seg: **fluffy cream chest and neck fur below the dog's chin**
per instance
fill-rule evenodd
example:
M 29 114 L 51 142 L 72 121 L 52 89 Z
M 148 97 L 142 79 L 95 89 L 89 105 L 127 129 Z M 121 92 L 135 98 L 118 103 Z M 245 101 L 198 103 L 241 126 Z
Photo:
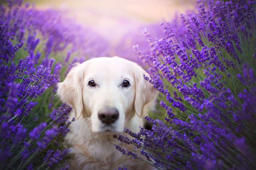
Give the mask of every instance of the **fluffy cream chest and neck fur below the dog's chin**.
M 72 164 L 77 167 L 112 168 L 112 166 L 120 163 L 120 160 L 131 159 L 115 149 L 114 144 L 124 145 L 124 143 L 114 139 L 113 135 L 91 134 L 89 127 L 82 120 L 75 120 L 70 124 L 70 132 L 65 140 L 71 149 L 71 154 L 75 156 Z

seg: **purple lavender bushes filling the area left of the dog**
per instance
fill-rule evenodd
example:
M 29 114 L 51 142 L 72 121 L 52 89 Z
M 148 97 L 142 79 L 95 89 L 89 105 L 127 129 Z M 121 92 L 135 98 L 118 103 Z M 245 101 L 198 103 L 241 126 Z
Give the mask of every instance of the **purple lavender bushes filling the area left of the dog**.
M 107 43 L 21 0 L 0 4 L 0 16 L 0 169 L 68 169 L 71 107 L 54 97 L 56 83 L 69 64 L 106 54 Z

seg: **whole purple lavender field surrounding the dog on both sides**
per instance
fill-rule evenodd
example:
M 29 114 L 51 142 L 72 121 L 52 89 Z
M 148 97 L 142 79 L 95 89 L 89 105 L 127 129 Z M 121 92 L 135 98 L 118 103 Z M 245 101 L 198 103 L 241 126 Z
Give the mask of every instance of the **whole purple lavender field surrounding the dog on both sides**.
M 72 108 L 56 84 L 74 63 L 113 55 L 143 66 L 159 91 L 151 130 L 113 136 L 141 154 L 113 147 L 157 169 L 256 169 L 255 2 L 195 0 L 114 45 L 65 11 L 0 4 L 0 169 L 69 169 Z

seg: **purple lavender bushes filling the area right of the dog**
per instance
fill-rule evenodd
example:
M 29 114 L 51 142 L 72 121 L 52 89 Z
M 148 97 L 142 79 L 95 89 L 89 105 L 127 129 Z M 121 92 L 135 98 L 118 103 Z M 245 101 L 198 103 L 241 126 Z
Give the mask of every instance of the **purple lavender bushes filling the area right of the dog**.
M 161 94 L 164 121 L 125 129 L 133 139 L 114 135 L 141 155 L 116 149 L 158 169 L 255 169 L 255 1 L 197 5 L 198 13 L 161 23 L 162 38 L 144 31 L 150 50 L 136 50 L 152 66 L 145 79 Z

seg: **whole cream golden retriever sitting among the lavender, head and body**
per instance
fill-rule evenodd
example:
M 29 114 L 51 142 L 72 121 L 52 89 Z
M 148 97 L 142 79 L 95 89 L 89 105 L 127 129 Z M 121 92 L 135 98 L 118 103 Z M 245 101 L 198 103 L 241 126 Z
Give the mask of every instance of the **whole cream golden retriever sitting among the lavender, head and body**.
M 132 132 L 143 127 L 143 112 L 157 94 L 143 75 L 149 77 L 132 61 L 101 57 L 76 64 L 57 84 L 60 100 L 73 108 L 70 119 L 75 117 L 65 137 L 74 156 L 70 169 L 153 168 L 116 150 L 114 144 L 140 155 L 133 145 L 113 138 L 114 134 L 126 135 L 124 127 Z

